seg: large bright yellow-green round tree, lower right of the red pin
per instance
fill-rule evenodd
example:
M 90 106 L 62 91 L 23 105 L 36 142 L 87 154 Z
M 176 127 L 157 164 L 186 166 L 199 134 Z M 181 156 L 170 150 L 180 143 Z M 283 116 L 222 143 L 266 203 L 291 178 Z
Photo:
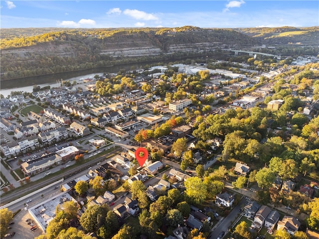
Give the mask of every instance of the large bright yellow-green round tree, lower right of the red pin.
M 202 203 L 207 197 L 207 185 L 199 178 L 188 178 L 185 182 L 185 193 L 195 203 Z

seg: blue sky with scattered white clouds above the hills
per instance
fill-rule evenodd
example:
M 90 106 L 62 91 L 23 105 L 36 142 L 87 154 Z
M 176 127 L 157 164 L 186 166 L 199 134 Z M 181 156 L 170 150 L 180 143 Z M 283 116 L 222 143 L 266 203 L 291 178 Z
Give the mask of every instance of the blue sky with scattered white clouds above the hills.
M 0 0 L 0 27 L 318 26 L 318 0 Z

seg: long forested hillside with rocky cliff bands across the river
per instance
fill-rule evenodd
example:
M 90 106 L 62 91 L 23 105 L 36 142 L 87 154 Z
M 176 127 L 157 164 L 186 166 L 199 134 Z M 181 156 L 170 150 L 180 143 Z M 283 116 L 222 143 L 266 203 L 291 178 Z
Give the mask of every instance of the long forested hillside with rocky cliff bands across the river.
M 298 34 L 288 34 L 298 32 Z M 285 33 L 284 35 L 281 35 Z M 1 80 L 123 63 L 214 55 L 231 47 L 318 43 L 318 27 L 1 29 Z M 318 44 L 317 44 L 318 45 Z M 210 54 L 208 54 L 210 53 Z

